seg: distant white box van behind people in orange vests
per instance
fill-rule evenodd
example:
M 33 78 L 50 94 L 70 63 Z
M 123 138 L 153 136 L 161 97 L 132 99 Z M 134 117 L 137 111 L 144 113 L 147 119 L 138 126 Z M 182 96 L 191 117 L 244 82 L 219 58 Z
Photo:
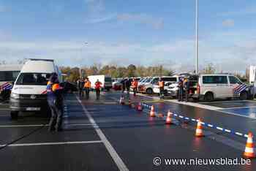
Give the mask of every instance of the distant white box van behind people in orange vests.
M 102 88 L 109 91 L 112 88 L 112 79 L 107 75 L 90 75 L 88 76 L 91 81 L 91 88 L 95 89 L 95 83 L 99 80 L 102 83 Z

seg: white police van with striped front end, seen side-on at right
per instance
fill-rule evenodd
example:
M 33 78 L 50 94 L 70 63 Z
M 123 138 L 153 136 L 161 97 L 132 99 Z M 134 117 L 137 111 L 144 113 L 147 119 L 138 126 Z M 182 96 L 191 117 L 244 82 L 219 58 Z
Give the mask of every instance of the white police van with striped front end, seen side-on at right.
M 242 83 L 238 77 L 229 74 L 199 75 L 197 90 L 192 95 L 193 99 L 214 99 L 240 98 L 248 99 L 249 86 Z

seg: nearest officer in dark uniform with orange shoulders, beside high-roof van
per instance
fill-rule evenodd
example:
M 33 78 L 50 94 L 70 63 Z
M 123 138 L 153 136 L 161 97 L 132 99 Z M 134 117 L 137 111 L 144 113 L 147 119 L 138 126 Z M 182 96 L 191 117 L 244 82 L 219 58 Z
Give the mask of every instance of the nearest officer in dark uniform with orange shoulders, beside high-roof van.
M 63 96 L 62 88 L 59 86 L 58 75 L 53 73 L 47 85 L 47 101 L 51 111 L 51 118 L 49 123 L 49 131 L 56 132 L 62 130 L 62 112 L 63 112 Z

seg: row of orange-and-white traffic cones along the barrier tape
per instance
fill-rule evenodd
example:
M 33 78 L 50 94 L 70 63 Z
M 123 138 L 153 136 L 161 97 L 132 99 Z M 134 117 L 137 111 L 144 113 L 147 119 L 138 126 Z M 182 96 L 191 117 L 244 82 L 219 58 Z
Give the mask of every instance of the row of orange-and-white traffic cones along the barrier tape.
M 121 96 L 120 104 L 124 104 L 124 96 Z M 129 99 L 129 106 L 130 107 L 135 107 L 135 104 L 132 104 L 130 99 Z M 138 111 L 143 110 L 142 104 L 140 102 L 138 103 L 136 108 L 137 108 Z M 150 115 L 150 117 L 156 117 L 157 116 L 155 111 L 154 111 L 154 105 L 151 106 L 151 110 L 150 110 L 149 115 Z M 173 115 L 173 113 L 171 113 L 170 110 L 168 110 L 165 124 L 167 124 L 167 125 L 173 124 L 172 123 L 172 115 Z M 163 114 L 159 113 L 158 117 L 162 118 Z M 195 129 L 195 137 L 204 137 L 202 121 L 200 121 L 200 118 L 197 121 L 197 127 Z M 248 158 L 248 159 L 252 159 L 252 158 L 256 157 L 255 151 L 254 151 L 254 143 L 253 143 L 252 132 L 249 132 L 248 137 L 247 137 L 246 147 L 244 149 L 244 157 Z

